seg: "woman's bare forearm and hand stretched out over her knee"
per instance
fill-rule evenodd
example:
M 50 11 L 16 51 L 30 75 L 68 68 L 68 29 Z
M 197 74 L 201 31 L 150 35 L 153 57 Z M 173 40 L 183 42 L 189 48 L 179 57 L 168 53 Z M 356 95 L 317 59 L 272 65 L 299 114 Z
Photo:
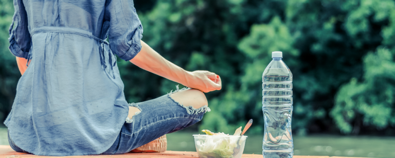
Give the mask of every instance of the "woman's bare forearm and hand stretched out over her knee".
M 185 71 L 160 56 L 145 42 L 141 41 L 141 46 L 140 52 L 130 60 L 138 67 L 205 93 L 221 90 L 222 83 L 218 75 L 208 71 Z

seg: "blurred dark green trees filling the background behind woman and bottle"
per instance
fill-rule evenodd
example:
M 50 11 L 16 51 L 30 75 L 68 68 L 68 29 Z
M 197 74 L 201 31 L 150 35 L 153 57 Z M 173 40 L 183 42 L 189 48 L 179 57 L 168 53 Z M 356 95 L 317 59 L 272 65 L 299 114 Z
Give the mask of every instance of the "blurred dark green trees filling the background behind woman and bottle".
M 184 67 L 217 73 L 200 129 L 231 133 L 254 119 L 262 133 L 262 73 L 272 51 L 294 75 L 293 132 L 395 133 L 395 2 L 392 0 L 135 0 L 143 41 Z M 12 2 L 0 0 L 0 119 L 20 73 L 8 50 Z M 129 102 L 175 89 L 118 60 Z

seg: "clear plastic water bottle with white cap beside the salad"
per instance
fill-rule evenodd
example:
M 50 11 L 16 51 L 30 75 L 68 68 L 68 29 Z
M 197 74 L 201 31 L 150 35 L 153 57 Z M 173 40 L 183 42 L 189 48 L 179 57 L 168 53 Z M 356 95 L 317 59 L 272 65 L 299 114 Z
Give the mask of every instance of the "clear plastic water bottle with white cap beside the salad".
M 291 158 L 292 73 L 282 61 L 282 52 L 272 52 L 272 62 L 262 75 L 262 111 L 265 120 L 264 158 Z

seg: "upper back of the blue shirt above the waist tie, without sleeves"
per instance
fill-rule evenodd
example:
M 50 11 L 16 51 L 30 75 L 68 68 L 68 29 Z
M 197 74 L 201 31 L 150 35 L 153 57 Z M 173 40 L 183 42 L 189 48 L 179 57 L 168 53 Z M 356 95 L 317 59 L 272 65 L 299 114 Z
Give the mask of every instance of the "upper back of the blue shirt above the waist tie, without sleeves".
M 90 31 L 99 38 L 105 36 L 101 36 L 105 1 L 23 2 L 28 13 L 29 29 L 43 26 L 72 27 Z

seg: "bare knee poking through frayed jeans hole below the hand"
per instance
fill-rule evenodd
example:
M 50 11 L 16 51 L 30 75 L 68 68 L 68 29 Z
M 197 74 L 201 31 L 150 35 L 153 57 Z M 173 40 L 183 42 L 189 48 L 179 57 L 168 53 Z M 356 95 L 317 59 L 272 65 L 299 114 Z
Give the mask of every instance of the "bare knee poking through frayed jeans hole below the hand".
M 199 90 L 184 90 L 171 94 L 170 96 L 173 100 L 183 104 L 183 106 L 192 106 L 195 109 L 202 108 L 203 106 L 208 106 L 208 101 L 206 95 Z

